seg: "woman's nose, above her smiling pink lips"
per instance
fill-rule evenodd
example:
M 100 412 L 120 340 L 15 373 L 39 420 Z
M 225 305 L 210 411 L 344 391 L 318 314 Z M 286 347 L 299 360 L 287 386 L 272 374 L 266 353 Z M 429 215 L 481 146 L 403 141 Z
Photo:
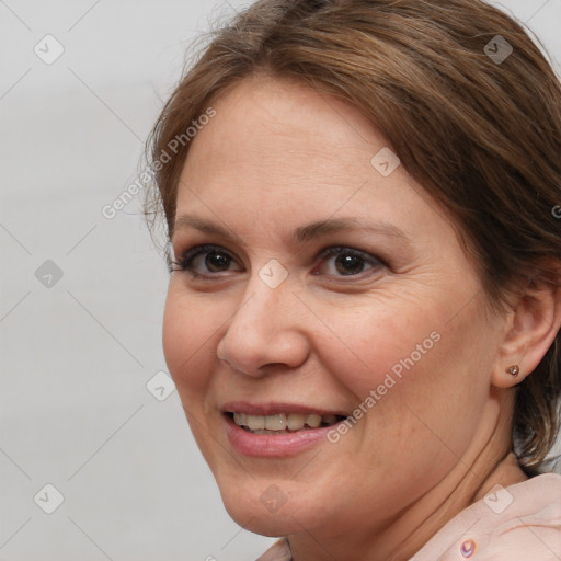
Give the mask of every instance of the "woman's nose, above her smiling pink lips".
M 255 278 L 244 296 L 218 343 L 218 358 L 252 377 L 304 364 L 309 355 L 306 309 L 289 284 L 270 288 Z

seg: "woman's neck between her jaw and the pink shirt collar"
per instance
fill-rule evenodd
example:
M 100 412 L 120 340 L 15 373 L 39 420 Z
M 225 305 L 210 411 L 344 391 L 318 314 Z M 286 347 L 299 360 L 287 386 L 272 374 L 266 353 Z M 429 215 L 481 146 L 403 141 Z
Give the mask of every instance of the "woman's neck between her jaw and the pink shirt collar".
M 497 483 L 528 479 L 512 451 L 513 394 L 490 401 L 480 430 L 453 470 L 415 503 L 376 528 L 357 529 L 336 540 L 302 533 L 288 537 L 294 561 L 368 559 L 399 561 L 413 557 L 447 522 Z M 328 553 L 329 551 L 329 553 Z

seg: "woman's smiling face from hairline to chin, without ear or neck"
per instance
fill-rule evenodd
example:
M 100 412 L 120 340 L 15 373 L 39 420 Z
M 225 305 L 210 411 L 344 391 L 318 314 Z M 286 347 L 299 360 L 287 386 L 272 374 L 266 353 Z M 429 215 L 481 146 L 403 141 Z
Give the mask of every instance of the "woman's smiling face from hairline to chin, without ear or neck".
M 214 107 L 178 195 L 175 259 L 206 248 L 171 276 L 170 373 L 239 524 L 369 531 L 489 439 L 502 320 L 356 108 L 264 78 Z

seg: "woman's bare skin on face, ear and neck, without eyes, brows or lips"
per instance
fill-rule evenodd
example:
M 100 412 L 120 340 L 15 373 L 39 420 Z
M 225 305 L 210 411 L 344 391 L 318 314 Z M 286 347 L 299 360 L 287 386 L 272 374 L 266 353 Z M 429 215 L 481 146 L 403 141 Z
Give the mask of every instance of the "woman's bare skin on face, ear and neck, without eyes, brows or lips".
M 216 244 L 231 259 L 220 271 L 197 257 L 203 278 L 172 273 L 163 329 L 196 442 L 232 518 L 288 536 L 296 561 L 409 558 L 495 483 L 526 479 L 508 456 L 512 388 L 551 344 L 559 295 L 536 290 L 490 311 L 446 213 L 403 167 L 385 178 L 370 164 L 387 141 L 355 107 L 265 77 L 213 105 L 176 217 L 213 221 L 233 239 L 184 225 L 172 247 L 179 257 Z M 293 244 L 296 228 L 343 217 L 385 221 L 410 241 L 357 229 Z M 345 275 L 341 259 L 321 257 L 333 245 L 387 265 L 363 260 Z M 288 273 L 274 289 L 259 276 L 271 259 Z M 275 459 L 230 445 L 226 401 L 352 412 L 432 332 L 439 341 L 336 444 Z M 505 374 L 512 364 L 516 381 Z M 260 501 L 271 484 L 286 497 L 274 513 Z

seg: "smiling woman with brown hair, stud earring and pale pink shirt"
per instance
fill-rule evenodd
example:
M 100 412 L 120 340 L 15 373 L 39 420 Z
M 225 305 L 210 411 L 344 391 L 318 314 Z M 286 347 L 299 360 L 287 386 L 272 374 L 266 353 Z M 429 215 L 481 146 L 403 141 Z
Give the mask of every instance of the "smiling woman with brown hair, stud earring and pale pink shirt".
M 560 107 L 478 0 L 261 0 L 181 80 L 164 353 L 262 560 L 561 558 Z

